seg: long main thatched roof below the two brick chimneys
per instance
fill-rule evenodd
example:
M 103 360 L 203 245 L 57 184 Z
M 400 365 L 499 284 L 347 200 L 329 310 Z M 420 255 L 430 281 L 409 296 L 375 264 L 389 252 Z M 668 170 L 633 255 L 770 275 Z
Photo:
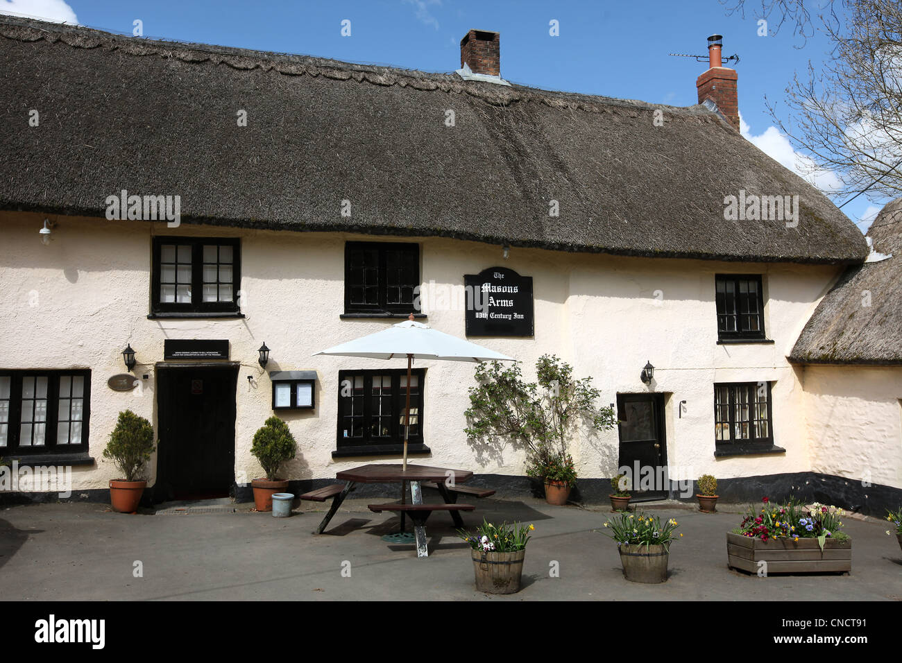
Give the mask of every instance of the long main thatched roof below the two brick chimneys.
M 704 106 L 3 16 L 0 117 L 5 209 L 97 216 L 127 189 L 179 195 L 183 223 L 742 261 L 867 253 L 827 198 Z M 724 220 L 740 189 L 798 195 L 798 226 Z

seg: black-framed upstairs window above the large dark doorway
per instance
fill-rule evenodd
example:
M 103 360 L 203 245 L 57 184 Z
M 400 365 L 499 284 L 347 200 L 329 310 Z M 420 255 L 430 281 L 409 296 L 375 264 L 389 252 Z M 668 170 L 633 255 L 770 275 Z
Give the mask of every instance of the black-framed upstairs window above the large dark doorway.
M 153 238 L 153 314 L 236 315 L 240 283 L 238 239 Z

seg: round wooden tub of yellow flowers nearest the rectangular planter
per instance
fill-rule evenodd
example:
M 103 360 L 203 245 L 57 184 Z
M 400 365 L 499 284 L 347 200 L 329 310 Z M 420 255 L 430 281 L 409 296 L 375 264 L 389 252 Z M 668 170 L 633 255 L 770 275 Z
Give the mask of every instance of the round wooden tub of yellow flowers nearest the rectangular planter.
M 657 584 L 667 580 L 670 543 L 676 538 L 675 519 L 621 513 L 604 523 L 602 534 L 617 541 L 623 576 L 633 583 Z M 680 534 L 682 537 L 683 535 Z

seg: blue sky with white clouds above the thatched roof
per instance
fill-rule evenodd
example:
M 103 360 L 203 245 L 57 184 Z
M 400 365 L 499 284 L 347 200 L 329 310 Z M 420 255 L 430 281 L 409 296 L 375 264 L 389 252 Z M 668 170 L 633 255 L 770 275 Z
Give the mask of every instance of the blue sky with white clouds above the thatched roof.
M 759 5 L 749 0 L 753 12 Z M 691 106 L 695 78 L 707 68 L 668 53 L 704 54 L 723 34 L 724 55 L 738 53 L 743 134 L 789 167 L 798 155 L 772 125 L 765 96 L 780 102 L 797 70 L 815 69 L 828 43 L 804 41 L 792 26 L 759 36 L 758 16 L 727 15 L 719 0 L 0 0 L 0 11 L 42 16 L 112 32 L 285 51 L 426 71 L 460 65 L 459 42 L 471 28 L 501 32 L 502 77 L 533 87 Z M 351 22 L 350 37 L 341 22 Z M 549 22 L 559 36 L 549 34 Z M 772 30 L 775 25 L 769 25 Z M 779 107 L 779 106 L 778 106 Z M 835 176 L 816 176 L 829 185 Z M 862 230 L 886 200 L 856 198 L 842 211 Z M 837 204 L 845 198 L 834 199 Z

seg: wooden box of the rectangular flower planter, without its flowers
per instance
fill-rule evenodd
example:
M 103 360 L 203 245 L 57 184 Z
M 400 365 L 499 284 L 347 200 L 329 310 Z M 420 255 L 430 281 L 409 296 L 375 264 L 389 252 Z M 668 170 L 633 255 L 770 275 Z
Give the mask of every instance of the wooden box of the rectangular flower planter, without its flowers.
M 837 573 L 851 571 L 851 540 L 826 539 L 821 550 L 817 539 L 753 539 L 727 532 L 727 557 L 731 568 L 757 574 L 759 561 L 768 563 L 767 574 Z

